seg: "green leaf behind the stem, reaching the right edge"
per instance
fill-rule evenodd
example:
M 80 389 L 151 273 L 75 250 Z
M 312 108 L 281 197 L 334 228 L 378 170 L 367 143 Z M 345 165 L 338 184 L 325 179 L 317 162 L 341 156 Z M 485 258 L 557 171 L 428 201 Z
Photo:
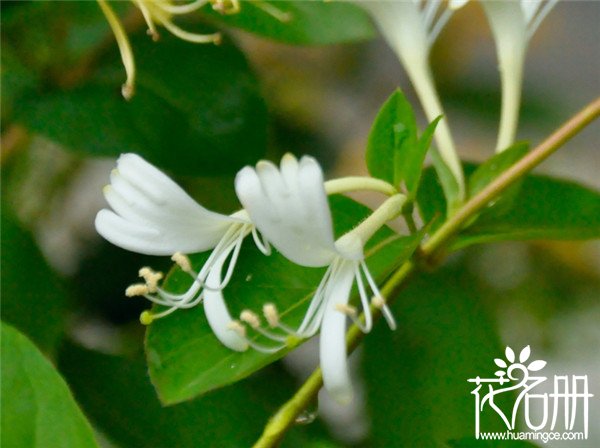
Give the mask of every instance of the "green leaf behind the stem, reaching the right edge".
M 478 165 L 465 164 L 473 173 Z M 432 168 L 425 170 L 418 194 L 426 222 L 444 209 L 442 188 Z M 499 201 L 501 207 L 503 201 Z M 491 204 L 455 240 L 452 249 L 494 241 L 587 240 L 600 237 L 600 193 L 574 182 L 548 176 L 526 176 L 510 209 L 495 213 Z M 442 224 L 436 220 L 434 230 Z

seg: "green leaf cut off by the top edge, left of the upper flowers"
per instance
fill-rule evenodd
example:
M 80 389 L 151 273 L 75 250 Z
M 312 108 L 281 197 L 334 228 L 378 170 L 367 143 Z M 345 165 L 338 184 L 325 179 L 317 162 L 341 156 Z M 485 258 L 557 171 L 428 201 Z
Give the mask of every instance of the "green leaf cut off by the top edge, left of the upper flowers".
M 287 15 L 288 20 L 275 18 L 265 7 Z M 376 35 L 366 12 L 348 3 L 246 1 L 238 14 L 223 15 L 210 6 L 202 12 L 215 22 L 294 45 L 336 44 Z

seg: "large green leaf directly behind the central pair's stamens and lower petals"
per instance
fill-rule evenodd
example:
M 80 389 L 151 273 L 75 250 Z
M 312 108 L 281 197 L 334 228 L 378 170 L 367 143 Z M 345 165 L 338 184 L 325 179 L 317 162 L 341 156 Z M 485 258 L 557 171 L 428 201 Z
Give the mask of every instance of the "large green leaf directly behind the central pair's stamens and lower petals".
M 368 213 L 366 207 L 343 197 L 332 198 L 332 211 L 337 234 L 352 228 Z M 367 263 L 379 280 L 407 259 L 419 243 L 418 236 L 394 235 L 384 228 L 367 247 Z M 205 257 L 193 257 L 194 266 L 199 269 Z M 234 277 L 224 291 L 225 299 L 233 316 L 243 309 L 260 314 L 265 303 L 273 302 L 284 322 L 296 327 L 324 271 L 297 266 L 278 253 L 265 257 L 246 241 Z M 189 276 L 176 271 L 165 288 L 182 292 L 190 282 Z M 146 333 L 150 377 L 161 401 L 167 404 L 239 381 L 288 351 L 267 355 L 252 349 L 243 353 L 227 349 L 213 335 L 201 306 L 160 319 Z

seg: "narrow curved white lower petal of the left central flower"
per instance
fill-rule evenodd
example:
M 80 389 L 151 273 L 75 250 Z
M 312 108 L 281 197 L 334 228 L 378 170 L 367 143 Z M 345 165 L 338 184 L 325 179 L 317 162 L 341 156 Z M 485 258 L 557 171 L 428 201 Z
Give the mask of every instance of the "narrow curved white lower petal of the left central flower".
M 217 259 L 208 275 L 208 283 L 221 283 L 221 271 L 228 256 L 229 252 L 225 252 Z M 224 346 L 238 352 L 243 352 L 248 348 L 248 343 L 229 327 L 229 324 L 233 322 L 233 318 L 227 310 L 222 290 L 208 288 L 204 290 L 204 313 L 213 333 Z

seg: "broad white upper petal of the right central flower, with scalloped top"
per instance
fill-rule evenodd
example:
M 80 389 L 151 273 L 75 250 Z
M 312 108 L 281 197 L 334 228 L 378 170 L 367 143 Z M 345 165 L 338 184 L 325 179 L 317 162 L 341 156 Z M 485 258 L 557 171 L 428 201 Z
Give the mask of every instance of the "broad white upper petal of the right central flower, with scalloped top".
M 336 256 L 323 172 L 312 157 L 291 154 L 281 170 L 270 162 L 243 168 L 235 189 L 252 222 L 286 258 L 302 266 L 326 266 Z

